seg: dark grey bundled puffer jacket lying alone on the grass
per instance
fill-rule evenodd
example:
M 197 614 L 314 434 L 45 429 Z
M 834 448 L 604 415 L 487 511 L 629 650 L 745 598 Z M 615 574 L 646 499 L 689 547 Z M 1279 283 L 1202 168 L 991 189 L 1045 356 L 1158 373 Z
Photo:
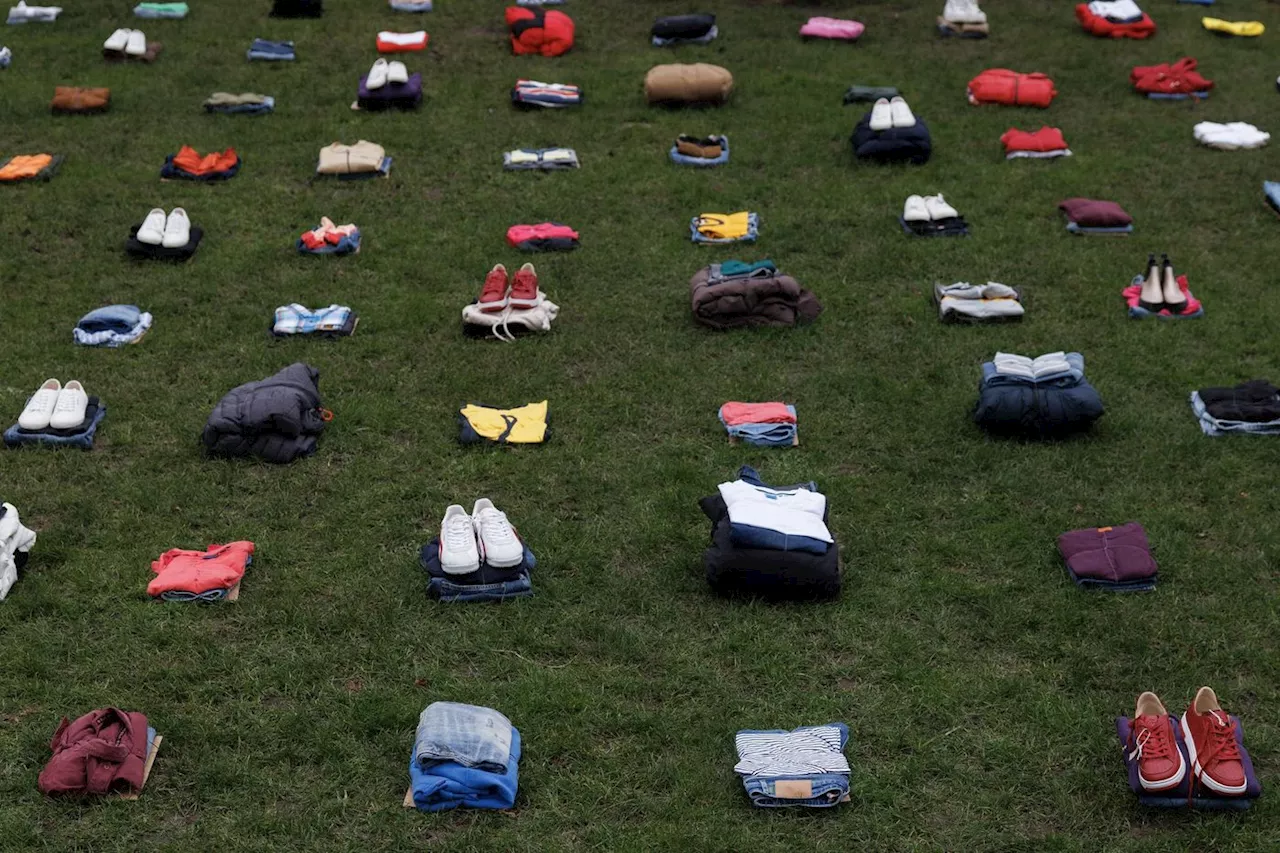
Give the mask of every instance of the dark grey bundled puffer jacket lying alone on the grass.
M 205 447 L 215 456 L 257 456 L 280 464 L 310 456 L 325 425 L 319 380 L 319 370 L 298 362 L 232 388 L 209 415 Z

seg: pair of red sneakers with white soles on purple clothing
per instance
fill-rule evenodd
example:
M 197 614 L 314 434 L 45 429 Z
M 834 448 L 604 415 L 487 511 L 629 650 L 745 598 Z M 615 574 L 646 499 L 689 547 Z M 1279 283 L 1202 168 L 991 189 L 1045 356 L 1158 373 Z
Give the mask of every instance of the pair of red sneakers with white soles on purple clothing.
M 1248 788 L 1235 721 L 1222 710 L 1212 688 L 1203 686 L 1181 717 L 1187 756 L 1178 748 L 1175 724 L 1169 711 L 1149 690 L 1138 697 L 1133 712 L 1133 757 L 1138 760 L 1138 781 L 1143 790 L 1178 788 L 1190 772 L 1219 797 L 1239 797 Z

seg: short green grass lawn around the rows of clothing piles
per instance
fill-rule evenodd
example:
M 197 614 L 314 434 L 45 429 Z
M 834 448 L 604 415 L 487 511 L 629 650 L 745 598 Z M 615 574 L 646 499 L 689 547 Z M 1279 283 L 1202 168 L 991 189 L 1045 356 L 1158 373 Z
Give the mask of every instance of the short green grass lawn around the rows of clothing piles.
M 92 452 L 0 452 L 0 497 L 38 530 L 0 605 L 0 849 L 4 850 L 1274 850 L 1280 845 L 1280 442 L 1201 434 L 1188 393 L 1280 378 L 1280 219 L 1261 182 L 1276 147 L 1198 146 L 1199 120 L 1280 131 L 1280 6 L 1229 0 L 1256 40 L 1202 31 L 1203 9 L 1151 0 L 1147 42 L 1097 40 L 1065 0 L 988 6 L 987 41 L 942 41 L 940 3 L 704 4 L 572 0 L 577 46 L 509 54 L 497 0 L 439 0 L 422 17 L 328 0 L 319 20 L 270 3 L 192 0 L 186 20 L 136 20 L 127 0 L 68 3 L 54 24 L 0 29 L 0 154 L 67 155 L 47 184 L 0 187 L 0 414 L 49 377 L 82 380 L 109 414 Z M 1221 6 L 1221 8 L 1219 8 Z M 707 10 L 707 47 L 649 46 L 658 14 Z M 803 44 L 810 14 L 867 23 L 858 45 Z M 138 26 L 150 67 L 100 45 Z M 379 29 L 425 27 L 422 109 L 357 114 Z M 253 37 L 298 61 L 248 63 Z M 1129 90 L 1135 64 L 1196 56 L 1217 82 L 1199 104 Z M 649 108 L 645 72 L 733 72 L 714 110 Z M 973 108 L 986 68 L 1044 72 L 1048 110 Z M 517 77 L 584 87 L 580 109 L 518 113 Z M 896 85 L 933 133 L 925 167 L 855 163 L 850 83 Z M 109 86 L 111 111 L 51 117 L 55 85 Z M 205 115 L 212 91 L 276 97 L 266 117 Z M 1064 161 L 1006 163 L 1010 127 L 1062 128 Z M 721 132 L 732 161 L 681 169 L 680 132 Z M 385 181 L 312 179 L 319 149 L 371 140 Z M 241 174 L 161 183 L 166 154 L 234 146 Z M 503 173 L 502 151 L 564 145 L 572 173 Z M 942 192 L 966 240 L 911 240 L 909 193 Z M 1128 240 L 1069 236 L 1061 199 L 1123 204 Z M 184 206 L 205 232 L 184 265 L 128 260 L 131 224 Z M 700 211 L 760 214 L 755 246 L 704 248 Z M 321 215 L 364 251 L 300 256 Z M 562 307 L 548 336 L 467 341 L 460 310 L 515 223 L 581 232 L 532 257 Z M 1125 318 L 1120 289 L 1170 252 L 1207 316 Z M 826 306 L 794 330 L 712 333 L 689 314 L 700 266 L 772 257 Z M 1023 288 L 1021 324 L 947 327 L 934 282 Z M 342 302 L 340 342 L 274 341 L 276 305 Z M 87 310 L 155 315 L 136 347 L 84 350 Z M 969 420 L 996 350 L 1079 350 L 1107 415 L 1064 443 L 987 439 Z M 209 460 L 200 432 L 232 387 L 293 362 L 320 370 L 335 418 L 319 452 L 284 467 Z M 550 401 L 553 438 L 509 452 L 457 444 L 466 401 Z M 801 447 L 730 447 L 717 407 L 785 400 Z M 831 503 L 837 603 L 713 598 L 696 500 L 741 464 L 815 479 Z M 417 551 L 448 503 L 504 508 L 538 555 L 536 596 L 503 606 L 429 601 Z M 1160 562 L 1152 594 L 1080 592 L 1055 549 L 1068 529 L 1140 521 Z M 172 547 L 252 539 L 234 605 L 147 599 Z M 1128 792 L 1112 720 L 1156 690 L 1180 713 L 1213 685 L 1245 726 L 1268 790 L 1243 815 L 1153 813 Z M 451 699 L 521 730 L 509 813 L 401 806 L 417 715 Z M 36 790 L 63 715 L 115 704 L 164 735 L 134 803 Z M 852 802 L 753 809 L 733 733 L 840 720 Z

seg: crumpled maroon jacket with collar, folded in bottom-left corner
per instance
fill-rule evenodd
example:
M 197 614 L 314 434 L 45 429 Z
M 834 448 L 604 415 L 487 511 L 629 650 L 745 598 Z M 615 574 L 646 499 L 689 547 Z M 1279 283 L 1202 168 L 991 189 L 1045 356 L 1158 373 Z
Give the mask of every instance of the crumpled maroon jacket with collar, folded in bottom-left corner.
M 76 722 L 67 717 L 49 743 L 54 757 L 40 771 L 45 794 L 109 794 L 142 790 L 147 758 L 147 717 L 99 708 Z

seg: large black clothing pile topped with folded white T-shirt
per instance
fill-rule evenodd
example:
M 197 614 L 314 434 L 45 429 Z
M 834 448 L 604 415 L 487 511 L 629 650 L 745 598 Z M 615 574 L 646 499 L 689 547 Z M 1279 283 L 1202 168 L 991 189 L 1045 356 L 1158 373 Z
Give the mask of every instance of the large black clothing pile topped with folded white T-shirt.
M 840 548 L 814 483 L 772 487 L 744 465 L 698 502 L 712 521 L 707 583 L 722 596 L 805 601 L 840 596 Z

